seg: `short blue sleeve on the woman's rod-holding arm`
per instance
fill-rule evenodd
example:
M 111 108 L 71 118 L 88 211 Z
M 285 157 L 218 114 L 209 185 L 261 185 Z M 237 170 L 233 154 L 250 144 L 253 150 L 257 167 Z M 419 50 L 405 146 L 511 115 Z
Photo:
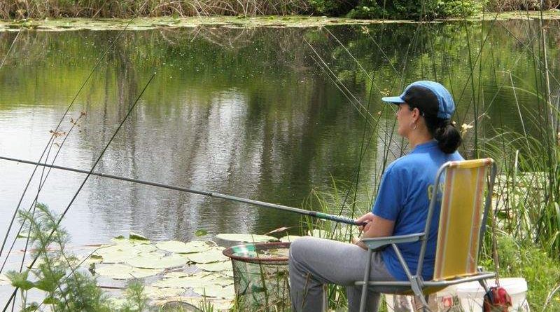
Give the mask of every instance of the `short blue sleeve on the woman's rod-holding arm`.
M 402 179 L 399 179 L 398 170 L 392 166 L 385 170 L 381 177 L 381 184 L 377 198 L 373 204 L 372 213 L 378 217 L 395 221 L 402 208 Z

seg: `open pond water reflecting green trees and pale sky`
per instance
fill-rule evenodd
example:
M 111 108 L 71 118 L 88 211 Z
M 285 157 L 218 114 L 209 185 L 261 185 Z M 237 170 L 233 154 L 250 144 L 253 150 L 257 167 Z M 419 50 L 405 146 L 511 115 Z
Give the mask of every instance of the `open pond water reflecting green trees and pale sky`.
M 560 27 L 546 23 L 554 78 Z M 2 58 L 15 36 L 0 33 Z M 348 190 L 358 180 L 356 200 L 367 209 L 386 161 L 407 150 L 394 131 L 393 107 L 381 96 L 414 80 L 442 81 L 456 98 L 458 125 L 477 120 L 477 132 L 471 129 L 461 147 L 472 157 L 476 140 L 498 128 L 538 135 L 540 124 L 528 112 L 542 102 L 521 90 L 542 90 L 542 72 L 535 75 L 541 64 L 532 56 L 542 53 L 538 47 L 538 22 L 522 20 L 21 32 L 0 69 L 0 156 L 37 161 L 77 95 L 60 128 L 67 133 L 48 159 L 57 154 L 55 164 L 89 170 L 157 72 L 96 172 L 304 208 L 311 190 L 332 191 L 333 180 L 339 198 L 353 201 Z M 553 88 L 553 99 L 558 92 Z M 0 161 L 1 238 L 32 170 Z M 41 173 L 22 208 L 36 196 Z M 52 170 L 38 201 L 62 212 L 84 178 Z M 62 224 L 73 245 L 84 245 L 129 231 L 190 240 L 197 229 L 212 238 L 299 222 L 288 212 L 90 177 Z

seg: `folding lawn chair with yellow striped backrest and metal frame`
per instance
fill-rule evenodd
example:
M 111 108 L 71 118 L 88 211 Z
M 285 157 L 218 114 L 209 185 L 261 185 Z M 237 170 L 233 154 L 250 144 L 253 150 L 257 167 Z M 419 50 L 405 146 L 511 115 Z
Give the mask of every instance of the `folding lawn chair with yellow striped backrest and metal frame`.
M 477 261 L 479 246 L 482 244 L 486 229 L 486 217 L 491 204 L 495 177 L 496 164 L 492 158 L 444 163 L 437 170 L 426 227 L 422 233 L 364 238 L 362 242 L 368 247 L 369 257 L 367 257 L 363 280 L 356 282 L 356 285 L 363 285 L 360 312 L 365 310 L 368 289 L 384 292 L 387 287 L 390 287 L 391 290 L 395 290 L 391 292 L 393 294 L 415 294 L 421 299 L 423 311 L 430 311 L 426 296 L 449 285 L 477 280 L 486 289 L 484 280 L 493 278 L 496 273 L 479 271 Z M 439 186 L 440 181 L 443 183 L 443 187 Z M 482 205 L 485 185 L 486 200 Z M 435 268 L 433 280 L 426 281 L 422 278 L 422 264 L 428 243 L 430 220 L 433 213 L 436 213 L 435 203 L 438 194 L 442 194 L 442 200 L 437 231 Z M 402 257 L 398 244 L 417 241 L 421 242 L 421 250 L 418 268 L 416 273 L 412 274 Z M 372 252 L 383 247 L 392 247 L 395 250 L 408 281 L 374 282 L 369 280 Z

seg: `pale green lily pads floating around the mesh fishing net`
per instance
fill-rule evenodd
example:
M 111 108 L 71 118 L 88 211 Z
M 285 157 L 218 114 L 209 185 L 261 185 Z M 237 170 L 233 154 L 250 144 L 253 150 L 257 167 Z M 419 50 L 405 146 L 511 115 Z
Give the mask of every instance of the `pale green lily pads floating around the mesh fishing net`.
M 165 240 L 151 243 L 147 238 L 138 239 L 144 236 L 137 234 L 134 237 L 113 238 L 111 242 L 114 245 L 102 245 L 93 252 L 90 257 L 94 258 L 92 262 L 97 262 L 94 276 L 105 278 L 104 283 L 109 278 L 117 284 L 119 280 L 148 278 L 149 282 L 144 282 L 144 295 L 156 306 L 185 303 L 200 307 L 204 303 L 214 306 L 214 311 L 232 307 L 235 299 L 234 273 L 230 258 L 223 255 L 224 247 L 211 241 L 184 243 Z M 237 242 L 277 240 L 272 236 L 236 233 L 218 234 L 216 237 Z M 299 237 L 286 236 L 283 239 L 291 241 Z M 276 256 L 275 251 L 267 250 L 262 256 Z M 253 273 L 262 277 L 258 270 Z M 284 271 L 282 273 L 285 275 Z M 279 284 L 284 283 L 286 277 L 281 278 Z M 115 306 L 124 302 L 123 298 L 111 299 Z

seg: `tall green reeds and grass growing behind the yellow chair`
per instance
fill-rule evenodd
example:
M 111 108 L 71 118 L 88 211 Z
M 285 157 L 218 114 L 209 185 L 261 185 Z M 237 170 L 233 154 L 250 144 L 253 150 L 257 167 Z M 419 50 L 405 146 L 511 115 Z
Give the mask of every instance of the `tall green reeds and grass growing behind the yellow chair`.
M 427 67 L 433 66 L 434 76 L 430 73 L 423 78 L 436 79 L 448 86 L 451 81 L 464 83 L 451 86 L 458 102 L 468 102 L 466 109 L 462 107 L 461 113 L 464 115 L 454 117 L 459 124 L 465 125 L 465 145 L 461 152 L 467 158 L 490 156 L 498 162 L 492 207 L 498 221 L 495 223 L 498 233 L 495 239 L 500 277 L 523 277 L 527 280 L 527 298 L 531 310 L 560 311 L 560 111 L 559 97 L 554 96 L 560 92 L 560 82 L 548 68 L 547 60 L 552 62 L 554 57 L 547 55 L 550 41 L 545 32 L 546 27 L 541 18 L 538 27 L 527 22 L 525 34 L 521 36 L 510 32 L 512 38 L 526 50 L 524 54 L 528 55 L 526 59 L 519 57 L 513 65 L 525 62 L 526 67 L 529 67 L 524 73 L 526 76 L 512 79 L 510 72 L 493 73 L 492 78 L 498 84 L 498 76 L 503 76 L 500 88 L 493 92 L 510 93 L 514 98 L 514 102 L 509 103 L 506 109 L 518 112 L 522 129 L 519 131 L 507 128 L 496 116 L 489 118 L 489 107 L 493 100 L 487 101 L 489 94 L 484 90 L 484 80 L 488 78 L 484 76 L 482 68 L 495 66 L 493 46 L 487 44 L 487 39 L 493 29 L 499 26 L 491 23 L 491 27 L 483 28 L 477 38 L 469 34 L 472 31 L 469 29 L 470 24 L 465 22 L 464 25 L 469 55 L 468 79 L 464 82 L 460 79 L 447 81 L 442 76 L 437 79 L 435 73 L 447 65 L 439 64 L 433 51 L 430 52 L 431 63 Z M 419 25 L 416 32 L 420 32 L 422 27 Z M 352 60 L 356 61 L 356 57 L 352 57 Z M 463 95 L 468 93 L 470 100 L 463 100 Z M 520 96 L 525 102 L 518 100 Z M 495 97 L 495 94 L 491 95 L 492 99 Z M 377 147 L 384 151 L 389 148 L 387 144 Z M 384 157 L 378 163 L 391 161 L 386 153 L 377 154 Z M 374 179 L 374 184 L 377 181 L 379 179 Z M 371 187 L 377 189 L 377 185 Z M 339 192 L 336 186 L 325 194 L 314 191 L 306 203 L 313 202 L 315 205 L 309 207 L 330 210 L 330 213 L 334 212 L 332 207 L 344 207 L 339 210 L 343 214 L 370 210 L 371 205 L 367 201 L 345 203 Z M 322 229 L 328 238 L 347 241 L 344 235 L 335 231 L 332 224 L 306 220 L 304 226 Z M 486 236 L 480 259 L 480 263 L 489 270 L 495 267 L 491 252 L 493 239 L 491 235 Z M 331 287 L 331 291 L 334 294 L 330 297 L 344 297 L 339 287 Z M 330 301 L 331 308 L 341 304 L 344 305 L 344 302 Z

